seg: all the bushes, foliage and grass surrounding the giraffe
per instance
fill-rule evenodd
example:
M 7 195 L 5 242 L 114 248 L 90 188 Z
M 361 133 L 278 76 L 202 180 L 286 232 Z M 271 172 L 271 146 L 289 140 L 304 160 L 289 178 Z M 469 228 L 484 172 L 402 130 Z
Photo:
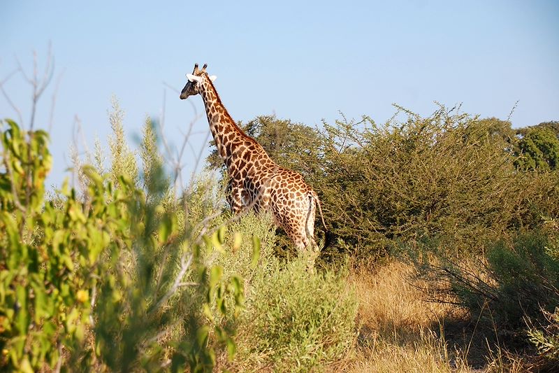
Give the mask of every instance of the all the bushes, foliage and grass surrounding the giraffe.
M 557 369 L 558 123 L 397 111 L 241 123 L 319 193 L 314 269 L 231 216 L 225 174 L 176 183 L 151 120 L 133 149 L 115 105 L 108 150 L 46 191 L 48 134 L 3 120 L 0 370 Z

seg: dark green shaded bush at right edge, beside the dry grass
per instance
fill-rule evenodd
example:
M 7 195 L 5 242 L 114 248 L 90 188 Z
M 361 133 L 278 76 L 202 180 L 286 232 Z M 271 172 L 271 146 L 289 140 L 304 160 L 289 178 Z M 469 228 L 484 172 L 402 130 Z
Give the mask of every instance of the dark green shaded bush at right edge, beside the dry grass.
M 430 244 L 439 243 L 424 241 L 425 246 L 413 251 L 432 254 Z M 556 244 L 549 234 L 527 232 L 496 241 L 483 256 L 457 259 L 442 251 L 435 252 L 436 259 L 422 260 L 421 255 L 414 259 L 421 276 L 447 284 L 431 291 L 433 300 L 465 307 L 490 337 L 503 337 L 507 344 L 526 344 L 526 322 L 548 324 L 544 315 L 559 304 Z

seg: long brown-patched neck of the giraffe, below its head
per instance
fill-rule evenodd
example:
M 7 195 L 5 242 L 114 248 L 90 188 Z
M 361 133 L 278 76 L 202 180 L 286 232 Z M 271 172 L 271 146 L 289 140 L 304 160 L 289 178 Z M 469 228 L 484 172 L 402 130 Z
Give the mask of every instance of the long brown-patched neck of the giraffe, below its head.
M 231 161 L 235 143 L 240 141 L 254 141 L 235 125 L 235 121 L 227 112 L 225 106 L 209 80 L 205 81 L 203 90 L 200 92 L 204 101 L 205 113 L 208 116 L 210 131 L 217 147 L 219 156 L 226 162 Z M 256 141 L 255 141 L 256 142 Z

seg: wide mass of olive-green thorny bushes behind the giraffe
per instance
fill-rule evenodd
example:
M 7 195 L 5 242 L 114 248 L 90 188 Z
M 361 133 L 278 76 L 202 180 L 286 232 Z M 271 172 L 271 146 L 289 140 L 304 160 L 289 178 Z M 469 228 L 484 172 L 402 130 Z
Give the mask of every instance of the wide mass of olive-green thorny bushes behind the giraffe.
M 488 241 L 541 227 L 542 216 L 559 215 L 554 123 L 511 129 L 510 122 L 440 106 L 426 118 L 398 107 L 384 125 L 342 115 L 311 129 L 262 116 L 242 128 L 317 191 L 335 238 L 321 259 L 332 262 L 348 254 L 383 258 L 398 243 L 423 237 L 447 242 L 454 254 L 482 253 Z M 537 149 L 523 150 L 536 135 Z M 530 169 L 521 162 L 536 150 L 551 171 L 519 171 Z M 221 164 L 216 157 L 210 162 Z M 279 239 L 276 252 L 292 254 L 289 240 Z

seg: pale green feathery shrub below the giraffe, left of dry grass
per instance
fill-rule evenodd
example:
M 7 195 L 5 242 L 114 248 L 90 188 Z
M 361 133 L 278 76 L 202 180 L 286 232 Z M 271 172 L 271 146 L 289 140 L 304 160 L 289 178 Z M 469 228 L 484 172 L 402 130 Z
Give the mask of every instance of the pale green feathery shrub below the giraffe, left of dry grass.
M 219 183 L 200 178 L 188 200 L 190 216 L 212 215 L 223 200 Z M 280 262 L 268 215 L 249 211 L 237 218 L 217 218 L 222 223 L 228 219 L 222 253 L 203 249 L 202 255 L 208 265 L 223 268 L 224 278 L 245 279 L 246 309 L 237 321 L 231 314 L 225 316 L 231 332 L 236 330 L 238 353 L 232 363 L 224 353 L 217 355 L 217 366 L 233 371 L 268 365 L 280 371 L 307 371 L 344 356 L 356 330 L 356 298 L 347 288 L 344 271 L 314 274 L 305 260 Z

